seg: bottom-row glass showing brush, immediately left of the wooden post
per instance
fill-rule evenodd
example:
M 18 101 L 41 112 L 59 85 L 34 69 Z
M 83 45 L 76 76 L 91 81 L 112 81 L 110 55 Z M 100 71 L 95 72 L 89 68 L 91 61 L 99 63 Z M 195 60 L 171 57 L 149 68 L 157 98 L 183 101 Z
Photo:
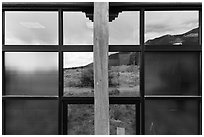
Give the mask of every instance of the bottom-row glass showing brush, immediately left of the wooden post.
M 94 135 L 94 105 L 68 105 L 68 134 Z

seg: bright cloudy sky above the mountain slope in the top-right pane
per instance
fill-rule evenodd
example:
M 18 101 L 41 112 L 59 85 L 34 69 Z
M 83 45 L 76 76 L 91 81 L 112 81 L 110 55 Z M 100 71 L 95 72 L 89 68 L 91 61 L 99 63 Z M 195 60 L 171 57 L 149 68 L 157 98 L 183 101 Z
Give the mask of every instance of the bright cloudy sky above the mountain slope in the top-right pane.
M 198 27 L 197 11 L 148 11 L 145 15 L 145 41 L 167 34 L 183 34 Z

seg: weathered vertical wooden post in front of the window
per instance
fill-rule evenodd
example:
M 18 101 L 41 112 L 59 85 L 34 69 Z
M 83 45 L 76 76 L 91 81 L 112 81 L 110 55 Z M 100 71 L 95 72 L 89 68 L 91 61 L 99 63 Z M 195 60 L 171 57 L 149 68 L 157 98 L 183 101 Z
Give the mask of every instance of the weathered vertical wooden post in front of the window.
M 109 135 L 108 8 L 108 2 L 94 3 L 94 126 L 96 135 Z

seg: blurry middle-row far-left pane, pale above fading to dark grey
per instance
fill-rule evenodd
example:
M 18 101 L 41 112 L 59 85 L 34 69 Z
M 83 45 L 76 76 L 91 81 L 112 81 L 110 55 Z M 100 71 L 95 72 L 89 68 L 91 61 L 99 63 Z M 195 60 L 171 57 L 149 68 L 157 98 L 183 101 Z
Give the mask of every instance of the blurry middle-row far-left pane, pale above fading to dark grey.
M 6 95 L 57 95 L 57 52 L 6 52 Z

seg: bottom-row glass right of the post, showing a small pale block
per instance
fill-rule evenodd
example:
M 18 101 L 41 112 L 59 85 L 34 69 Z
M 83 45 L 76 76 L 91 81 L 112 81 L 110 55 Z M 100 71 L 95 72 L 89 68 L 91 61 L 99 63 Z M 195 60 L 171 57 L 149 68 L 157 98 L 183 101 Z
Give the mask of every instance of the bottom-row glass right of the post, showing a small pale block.
M 110 134 L 136 134 L 135 105 L 110 104 Z

